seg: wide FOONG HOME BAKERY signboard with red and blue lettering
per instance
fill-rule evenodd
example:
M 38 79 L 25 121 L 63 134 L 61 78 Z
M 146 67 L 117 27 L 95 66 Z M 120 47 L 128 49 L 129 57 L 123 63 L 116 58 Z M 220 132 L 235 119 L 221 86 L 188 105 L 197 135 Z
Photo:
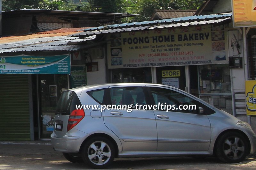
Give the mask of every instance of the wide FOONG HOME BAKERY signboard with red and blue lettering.
M 223 25 L 116 33 L 108 38 L 109 69 L 228 63 Z

